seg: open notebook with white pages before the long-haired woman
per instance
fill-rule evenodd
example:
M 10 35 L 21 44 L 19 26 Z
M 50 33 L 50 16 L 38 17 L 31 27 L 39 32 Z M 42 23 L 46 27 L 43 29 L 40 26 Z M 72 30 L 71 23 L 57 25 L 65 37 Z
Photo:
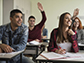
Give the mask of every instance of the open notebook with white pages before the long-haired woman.
M 54 59 L 84 59 L 84 54 L 80 53 L 69 53 L 66 54 L 58 54 L 55 52 L 48 52 L 40 54 L 42 57 L 46 58 L 47 60 L 54 60 Z

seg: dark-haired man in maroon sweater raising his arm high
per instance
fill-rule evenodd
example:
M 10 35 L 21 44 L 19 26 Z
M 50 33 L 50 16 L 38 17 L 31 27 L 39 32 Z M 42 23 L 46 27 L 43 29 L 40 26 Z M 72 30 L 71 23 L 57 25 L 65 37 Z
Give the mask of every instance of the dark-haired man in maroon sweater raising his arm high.
M 38 2 L 37 5 L 38 5 L 38 9 L 41 11 L 42 20 L 39 24 L 35 25 L 35 17 L 34 16 L 29 17 L 28 19 L 28 23 L 29 23 L 28 42 L 33 41 L 33 40 L 37 42 L 41 42 L 41 28 L 43 27 L 46 21 L 46 16 L 45 16 L 45 12 L 43 10 L 41 3 Z

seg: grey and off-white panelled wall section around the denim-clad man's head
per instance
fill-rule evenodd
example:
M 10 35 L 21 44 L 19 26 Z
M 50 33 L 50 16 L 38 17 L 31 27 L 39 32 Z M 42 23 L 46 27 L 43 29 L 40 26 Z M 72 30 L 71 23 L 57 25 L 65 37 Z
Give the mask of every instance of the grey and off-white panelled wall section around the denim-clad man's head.
M 30 15 L 30 0 L 3 0 L 3 24 L 10 22 L 10 11 L 20 9 L 24 13 L 24 24 L 28 25 L 27 19 Z

